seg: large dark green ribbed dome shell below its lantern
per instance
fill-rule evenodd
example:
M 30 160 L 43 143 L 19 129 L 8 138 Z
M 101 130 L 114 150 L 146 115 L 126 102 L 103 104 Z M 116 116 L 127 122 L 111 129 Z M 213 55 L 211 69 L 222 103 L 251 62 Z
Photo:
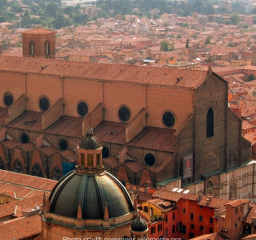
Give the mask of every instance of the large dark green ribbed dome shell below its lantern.
M 109 218 L 134 211 L 126 188 L 108 172 L 69 172 L 51 192 L 50 212 L 77 218 L 79 203 L 82 219 L 104 219 L 106 203 Z

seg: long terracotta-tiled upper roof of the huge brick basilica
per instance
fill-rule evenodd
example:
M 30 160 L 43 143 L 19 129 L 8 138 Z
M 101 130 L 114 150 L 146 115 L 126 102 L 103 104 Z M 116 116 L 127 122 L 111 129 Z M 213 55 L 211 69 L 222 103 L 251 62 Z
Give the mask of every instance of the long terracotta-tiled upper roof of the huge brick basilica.
M 205 81 L 207 76 L 206 71 L 184 71 L 170 68 L 147 68 L 121 64 L 83 63 L 7 56 L 0 56 L 0 71 L 38 73 L 79 77 L 91 81 L 127 82 L 136 85 L 159 85 L 188 89 L 196 89 Z

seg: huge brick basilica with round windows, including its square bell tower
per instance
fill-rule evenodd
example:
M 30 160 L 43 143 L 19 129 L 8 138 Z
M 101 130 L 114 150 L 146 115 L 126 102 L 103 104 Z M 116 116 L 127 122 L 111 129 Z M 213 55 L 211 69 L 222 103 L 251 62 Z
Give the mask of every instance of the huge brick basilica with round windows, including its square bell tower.
M 0 56 L 0 168 L 59 180 L 90 120 L 123 184 L 254 198 L 238 182 L 254 182 L 250 143 L 211 69 L 57 60 L 55 33 L 41 28 L 23 42 L 23 58 Z

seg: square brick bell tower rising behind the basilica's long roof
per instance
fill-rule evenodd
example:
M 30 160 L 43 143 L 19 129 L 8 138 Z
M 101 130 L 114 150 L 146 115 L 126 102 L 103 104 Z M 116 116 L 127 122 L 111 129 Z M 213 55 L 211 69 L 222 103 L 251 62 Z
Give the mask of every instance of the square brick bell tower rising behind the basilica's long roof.
M 42 28 L 22 33 L 23 56 L 55 59 L 55 34 Z

